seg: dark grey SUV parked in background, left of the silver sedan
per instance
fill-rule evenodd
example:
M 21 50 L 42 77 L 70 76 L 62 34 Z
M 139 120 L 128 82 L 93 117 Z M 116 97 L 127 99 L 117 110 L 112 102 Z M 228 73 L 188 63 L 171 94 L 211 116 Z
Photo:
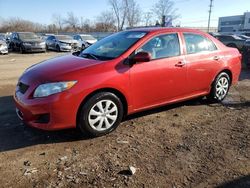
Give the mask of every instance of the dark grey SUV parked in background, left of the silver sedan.
M 12 33 L 9 48 L 20 53 L 46 51 L 45 42 L 32 32 Z

